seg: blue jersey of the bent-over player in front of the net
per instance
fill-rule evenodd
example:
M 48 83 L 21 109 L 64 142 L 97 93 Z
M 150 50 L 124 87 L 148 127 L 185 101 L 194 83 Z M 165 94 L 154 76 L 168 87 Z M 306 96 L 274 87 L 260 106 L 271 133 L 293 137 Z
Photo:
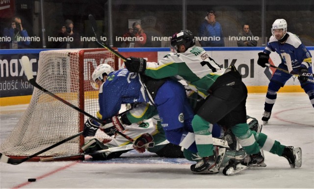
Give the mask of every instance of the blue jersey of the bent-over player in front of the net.
M 148 102 L 147 93 L 137 73 L 127 69 L 111 72 L 99 90 L 98 117 L 102 120 L 116 115 L 122 104 Z

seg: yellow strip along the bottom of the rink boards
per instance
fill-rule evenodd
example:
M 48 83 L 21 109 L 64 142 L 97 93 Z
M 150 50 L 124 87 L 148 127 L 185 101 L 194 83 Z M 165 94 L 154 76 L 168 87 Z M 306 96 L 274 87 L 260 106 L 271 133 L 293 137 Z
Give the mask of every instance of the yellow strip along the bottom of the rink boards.
M 266 93 L 267 86 L 247 86 L 248 93 Z M 282 88 L 278 92 L 304 92 L 304 90 L 299 85 L 287 85 Z M 96 93 L 96 94 L 95 94 Z M 85 93 L 86 95 L 86 93 Z M 98 91 L 93 91 L 89 94 L 87 98 L 91 96 L 98 97 Z M 94 97 L 95 97 L 94 96 Z M 2 97 L 0 98 L 0 106 L 12 106 L 12 105 L 22 105 L 22 104 L 29 104 L 31 99 L 31 95 L 27 96 L 17 96 L 17 97 Z

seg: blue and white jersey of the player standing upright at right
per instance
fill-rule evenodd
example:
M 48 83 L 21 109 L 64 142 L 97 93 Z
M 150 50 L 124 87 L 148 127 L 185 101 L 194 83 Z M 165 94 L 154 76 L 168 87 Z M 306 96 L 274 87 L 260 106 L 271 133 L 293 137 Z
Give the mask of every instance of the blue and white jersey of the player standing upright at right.
M 302 67 L 309 68 L 312 64 L 312 55 L 302 44 L 301 40 L 293 33 L 287 32 L 289 35 L 287 41 L 281 44 L 274 36 L 271 36 L 264 53 L 270 54 L 276 52 L 280 55 L 283 64 L 288 67 L 289 72 L 297 71 Z

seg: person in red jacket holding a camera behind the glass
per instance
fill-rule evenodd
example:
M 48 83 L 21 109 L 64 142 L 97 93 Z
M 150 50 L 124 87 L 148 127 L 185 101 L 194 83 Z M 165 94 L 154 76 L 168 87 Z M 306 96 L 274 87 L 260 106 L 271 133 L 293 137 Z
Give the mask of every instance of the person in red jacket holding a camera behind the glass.
M 123 38 L 127 37 L 132 37 L 132 40 L 127 40 L 125 47 L 145 47 L 147 36 L 139 22 L 134 22 L 132 28 L 123 35 Z

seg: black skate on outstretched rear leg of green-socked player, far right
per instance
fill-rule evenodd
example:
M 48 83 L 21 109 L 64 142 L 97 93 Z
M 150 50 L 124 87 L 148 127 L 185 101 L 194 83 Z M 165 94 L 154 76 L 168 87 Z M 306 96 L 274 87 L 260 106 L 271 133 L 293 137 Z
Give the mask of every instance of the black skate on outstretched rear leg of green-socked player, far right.
M 291 168 L 301 167 L 302 165 L 301 148 L 299 147 L 294 148 L 293 146 L 286 146 L 282 156 L 288 160 Z

